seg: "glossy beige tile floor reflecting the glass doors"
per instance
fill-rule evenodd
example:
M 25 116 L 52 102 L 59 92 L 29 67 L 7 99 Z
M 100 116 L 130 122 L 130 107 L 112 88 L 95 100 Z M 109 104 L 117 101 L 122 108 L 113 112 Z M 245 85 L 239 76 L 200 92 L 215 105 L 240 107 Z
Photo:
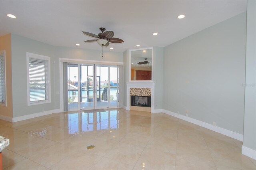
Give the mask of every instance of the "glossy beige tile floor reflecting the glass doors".
M 242 142 L 164 113 L 114 109 L 0 122 L 4 170 L 256 169 Z M 88 150 L 88 145 L 95 148 Z

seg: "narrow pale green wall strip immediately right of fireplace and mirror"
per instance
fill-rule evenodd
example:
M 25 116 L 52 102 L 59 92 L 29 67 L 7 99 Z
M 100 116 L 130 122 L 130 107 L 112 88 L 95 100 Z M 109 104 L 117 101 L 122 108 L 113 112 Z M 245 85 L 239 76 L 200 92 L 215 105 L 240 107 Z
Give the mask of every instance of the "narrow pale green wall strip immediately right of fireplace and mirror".
M 154 109 L 163 108 L 164 48 L 153 47 Z

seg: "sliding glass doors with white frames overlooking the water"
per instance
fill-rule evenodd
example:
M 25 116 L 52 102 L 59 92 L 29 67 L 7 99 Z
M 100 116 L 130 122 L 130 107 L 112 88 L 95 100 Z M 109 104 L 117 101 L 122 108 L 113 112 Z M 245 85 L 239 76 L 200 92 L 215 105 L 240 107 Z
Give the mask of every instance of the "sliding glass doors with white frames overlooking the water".
M 64 111 L 119 107 L 119 70 L 118 65 L 64 63 Z

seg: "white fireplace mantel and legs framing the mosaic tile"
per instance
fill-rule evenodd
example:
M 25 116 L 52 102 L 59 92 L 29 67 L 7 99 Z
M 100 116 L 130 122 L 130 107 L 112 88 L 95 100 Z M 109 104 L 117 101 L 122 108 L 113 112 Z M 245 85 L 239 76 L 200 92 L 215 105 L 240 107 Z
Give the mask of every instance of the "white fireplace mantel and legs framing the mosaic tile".
M 130 88 L 150 88 L 151 89 L 151 111 L 154 110 L 154 86 L 153 81 L 128 81 L 126 83 L 126 110 L 130 110 Z

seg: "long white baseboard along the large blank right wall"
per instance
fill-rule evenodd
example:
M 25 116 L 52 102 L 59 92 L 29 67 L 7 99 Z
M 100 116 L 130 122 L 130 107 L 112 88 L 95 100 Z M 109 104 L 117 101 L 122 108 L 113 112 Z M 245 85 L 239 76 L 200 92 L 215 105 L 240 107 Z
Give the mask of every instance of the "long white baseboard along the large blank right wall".
M 167 115 L 171 115 L 173 117 L 177 117 L 177 118 L 182 119 L 184 121 L 188 121 L 190 123 L 194 123 L 194 124 L 196 124 L 200 127 L 208 128 L 210 130 L 213 130 L 213 131 L 218 132 L 220 134 L 224 134 L 224 135 L 229 136 L 231 138 L 234 138 L 236 140 L 243 141 L 243 135 L 239 134 L 237 132 L 233 132 L 231 130 L 227 130 L 227 129 L 221 128 L 221 127 L 216 127 L 216 126 L 211 125 L 209 123 L 205 123 L 203 121 L 199 121 L 199 120 L 193 119 L 191 117 L 186 117 L 184 115 L 179 115 L 178 113 L 174 113 L 174 112 L 167 111 L 167 110 L 164 110 L 164 109 L 163 109 L 163 113 L 166 113 Z

